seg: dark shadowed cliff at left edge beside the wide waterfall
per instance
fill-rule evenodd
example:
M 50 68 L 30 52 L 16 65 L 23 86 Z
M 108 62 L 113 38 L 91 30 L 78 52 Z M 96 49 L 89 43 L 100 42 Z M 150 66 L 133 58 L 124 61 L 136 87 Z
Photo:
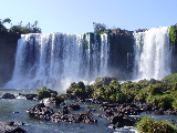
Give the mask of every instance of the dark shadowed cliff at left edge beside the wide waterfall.
M 0 88 L 12 78 L 18 39 L 18 33 L 0 32 Z

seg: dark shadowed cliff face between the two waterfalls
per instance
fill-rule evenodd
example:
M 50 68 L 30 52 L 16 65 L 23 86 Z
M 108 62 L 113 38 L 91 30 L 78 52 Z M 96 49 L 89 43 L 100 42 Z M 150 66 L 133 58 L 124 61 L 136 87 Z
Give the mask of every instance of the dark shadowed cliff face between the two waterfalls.
M 134 66 L 134 37 L 129 34 L 110 34 L 111 75 L 118 80 L 132 79 Z

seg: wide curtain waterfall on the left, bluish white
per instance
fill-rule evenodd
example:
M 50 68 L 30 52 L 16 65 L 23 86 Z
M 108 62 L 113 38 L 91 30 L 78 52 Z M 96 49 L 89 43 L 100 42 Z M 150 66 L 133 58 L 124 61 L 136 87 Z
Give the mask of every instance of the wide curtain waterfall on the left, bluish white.
M 12 80 L 6 88 L 59 88 L 66 81 L 92 81 L 107 75 L 110 44 L 107 34 L 101 42 L 94 34 L 22 34 L 18 41 Z M 66 86 L 65 86 L 66 88 Z

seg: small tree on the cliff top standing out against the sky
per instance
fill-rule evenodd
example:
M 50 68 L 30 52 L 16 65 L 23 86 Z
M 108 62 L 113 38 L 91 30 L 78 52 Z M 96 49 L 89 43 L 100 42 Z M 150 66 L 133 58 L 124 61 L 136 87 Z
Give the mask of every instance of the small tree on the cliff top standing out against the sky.
M 106 25 L 103 23 L 93 22 L 94 33 L 103 33 L 106 31 Z

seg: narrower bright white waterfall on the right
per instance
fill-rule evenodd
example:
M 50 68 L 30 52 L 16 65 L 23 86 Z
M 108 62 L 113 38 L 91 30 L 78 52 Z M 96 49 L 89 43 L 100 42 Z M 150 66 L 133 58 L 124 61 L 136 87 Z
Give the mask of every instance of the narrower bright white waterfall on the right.
M 134 79 L 157 79 L 170 74 L 169 28 L 152 28 L 134 33 Z

